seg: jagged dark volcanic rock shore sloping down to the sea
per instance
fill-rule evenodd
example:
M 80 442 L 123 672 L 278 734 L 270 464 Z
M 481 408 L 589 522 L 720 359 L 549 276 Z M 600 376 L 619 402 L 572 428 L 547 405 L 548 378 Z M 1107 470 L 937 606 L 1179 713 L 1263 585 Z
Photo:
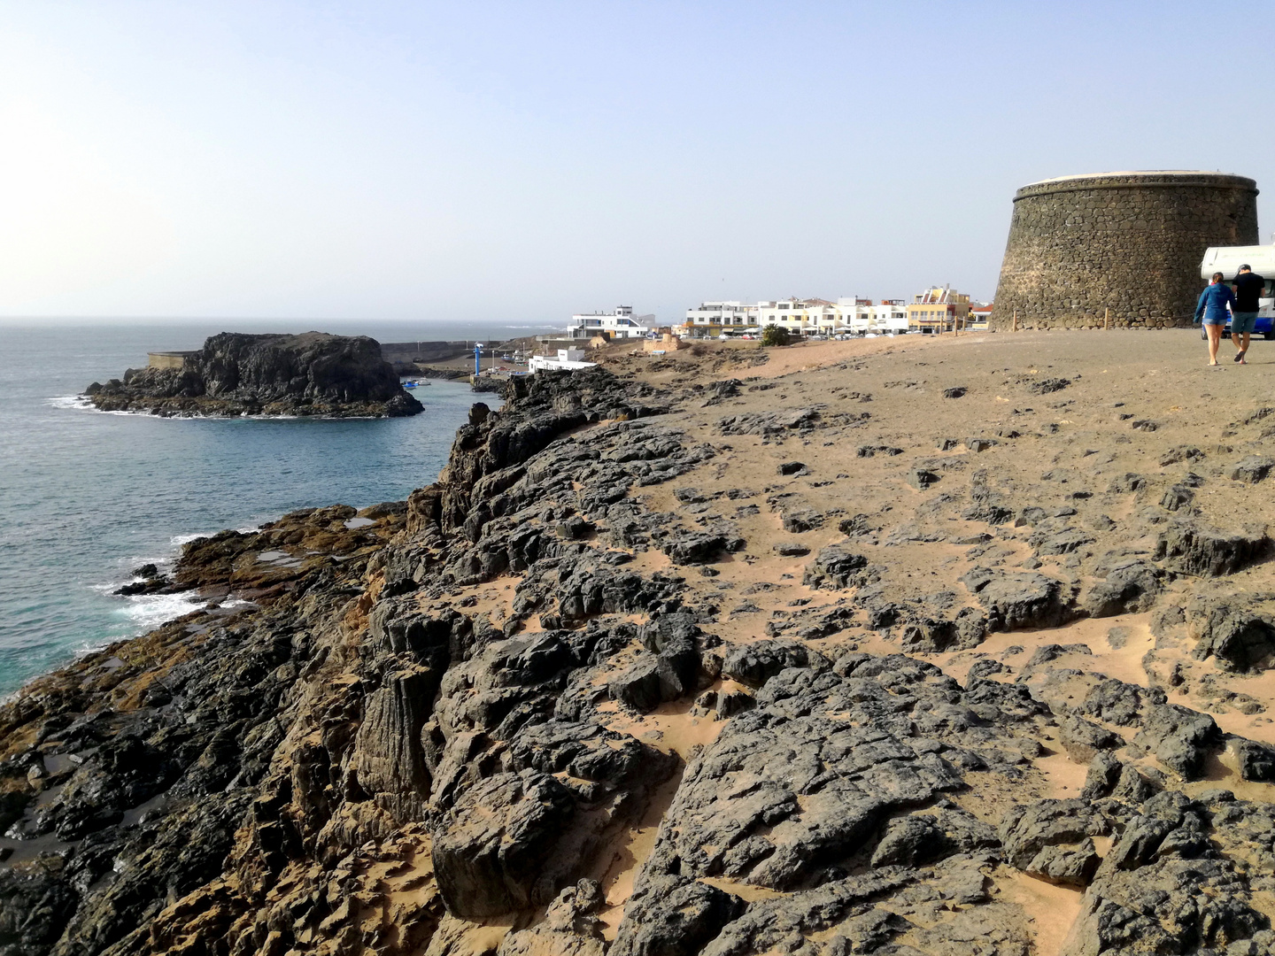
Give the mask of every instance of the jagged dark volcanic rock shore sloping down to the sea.
M 1275 748 L 1158 656 L 1271 667 L 1269 595 L 1182 588 L 1264 532 L 1163 518 L 1177 474 L 905 491 L 872 419 L 705 393 L 519 380 L 405 505 L 187 546 L 221 607 L 0 707 L 0 953 L 1272 951 Z M 835 436 L 887 509 L 820 497 Z M 1031 630 L 1104 617 L 1146 684 Z

